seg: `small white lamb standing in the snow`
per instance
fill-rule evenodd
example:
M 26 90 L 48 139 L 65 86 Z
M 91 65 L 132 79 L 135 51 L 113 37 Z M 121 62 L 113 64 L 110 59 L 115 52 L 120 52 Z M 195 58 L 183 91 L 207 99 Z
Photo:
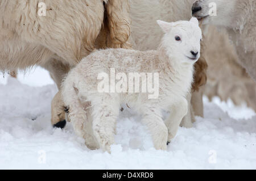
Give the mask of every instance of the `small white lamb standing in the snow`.
M 88 148 L 110 151 L 110 145 L 114 144 L 115 122 L 123 103 L 142 116 L 155 149 L 166 150 L 175 137 L 181 119 L 187 114 L 185 95 L 191 89 L 193 64 L 200 57 L 202 32 L 196 18 L 175 23 L 159 20 L 158 24 L 165 33 L 158 50 L 97 50 L 85 57 L 65 78 L 63 100 L 69 107 L 75 132 L 85 138 Z M 110 93 L 109 89 L 99 92 L 97 78 L 102 73 L 111 78 L 111 68 L 121 73 L 117 75 L 119 81 L 115 80 L 114 91 L 110 81 Z M 148 85 L 144 93 L 130 93 L 125 81 L 128 73 L 156 73 L 159 77 L 154 77 L 154 87 L 159 87 L 158 98 L 148 99 L 151 95 Z M 152 81 L 152 77 L 148 79 Z M 104 80 L 109 84 L 108 79 Z M 145 82 L 142 80 L 139 83 L 143 87 Z M 129 79 L 129 85 L 130 81 L 133 83 L 133 79 Z M 115 92 L 117 85 L 122 93 Z M 163 110 L 171 110 L 165 122 Z

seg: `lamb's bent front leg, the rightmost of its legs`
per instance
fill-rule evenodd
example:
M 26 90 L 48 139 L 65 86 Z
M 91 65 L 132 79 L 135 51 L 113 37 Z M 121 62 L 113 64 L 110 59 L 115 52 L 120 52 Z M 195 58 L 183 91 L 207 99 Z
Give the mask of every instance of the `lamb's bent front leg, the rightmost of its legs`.
M 171 107 L 171 113 L 168 119 L 166 120 L 166 126 L 168 128 L 168 142 L 170 143 L 171 139 L 176 136 L 177 130 L 181 120 L 188 112 L 188 102 L 185 98 L 181 98 L 179 102 Z

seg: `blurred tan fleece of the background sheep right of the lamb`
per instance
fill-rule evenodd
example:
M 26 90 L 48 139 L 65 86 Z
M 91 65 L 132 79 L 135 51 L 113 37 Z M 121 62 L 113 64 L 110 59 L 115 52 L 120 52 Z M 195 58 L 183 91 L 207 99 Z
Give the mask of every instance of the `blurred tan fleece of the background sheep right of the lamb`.
M 244 68 L 238 64 L 236 50 L 230 45 L 228 33 L 219 32 L 216 27 L 210 26 L 205 41 L 212 43 L 205 50 L 208 60 L 207 84 L 204 86 L 204 95 L 210 100 L 214 96 L 222 101 L 231 99 L 234 104 L 247 106 L 256 111 L 256 83 Z M 217 38 L 216 38 L 217 36 Z

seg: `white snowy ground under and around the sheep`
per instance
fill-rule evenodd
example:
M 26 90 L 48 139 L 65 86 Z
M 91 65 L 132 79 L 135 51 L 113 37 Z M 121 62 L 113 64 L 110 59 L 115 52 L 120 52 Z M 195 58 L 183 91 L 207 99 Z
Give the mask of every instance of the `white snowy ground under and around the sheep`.
M 0 169 L 256 169 L 256 116 L 246 106 L 204 98 L 205 118 L 180 128 L 168 151 L 152 148 L 139 117 L 125 110 L 109 154 L 86 148 L 70 124 L 51 127 L 56 91 L 43 69 L 0 78 Z

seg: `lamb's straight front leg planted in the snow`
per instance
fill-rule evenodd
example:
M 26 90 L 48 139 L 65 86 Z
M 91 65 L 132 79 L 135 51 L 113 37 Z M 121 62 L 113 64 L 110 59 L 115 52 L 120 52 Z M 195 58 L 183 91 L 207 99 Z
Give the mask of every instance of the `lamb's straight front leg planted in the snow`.
M 142 116 L 142 123 L 146 124 L 148 130 L 150 131 L 155 149 L 166 150 L 168 129 L 164 124 L 160 112 L 155 108 L 144 107 L 142 110 Z

